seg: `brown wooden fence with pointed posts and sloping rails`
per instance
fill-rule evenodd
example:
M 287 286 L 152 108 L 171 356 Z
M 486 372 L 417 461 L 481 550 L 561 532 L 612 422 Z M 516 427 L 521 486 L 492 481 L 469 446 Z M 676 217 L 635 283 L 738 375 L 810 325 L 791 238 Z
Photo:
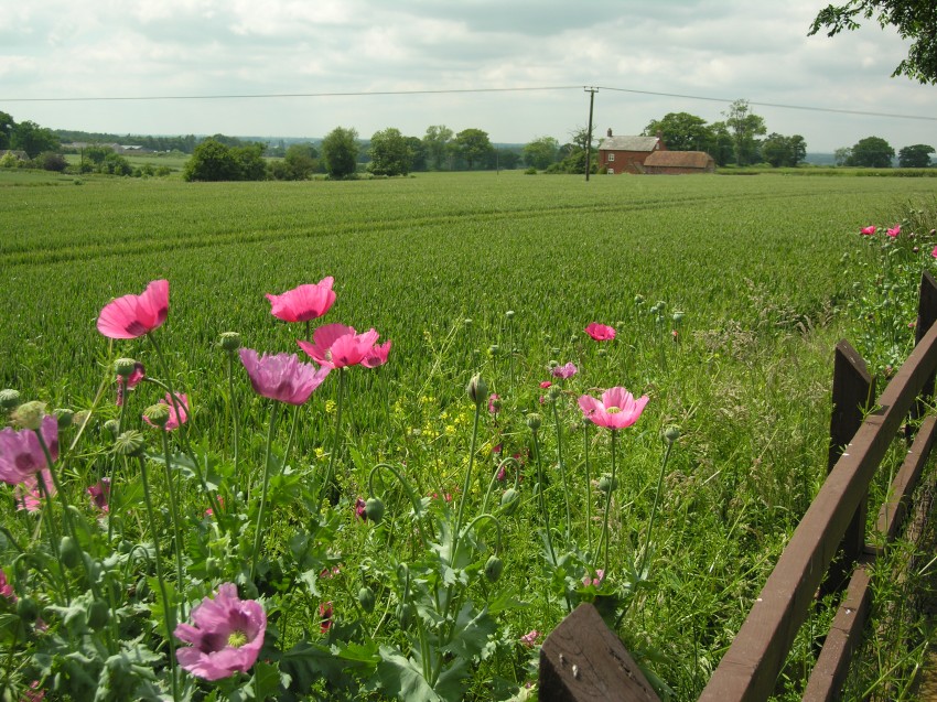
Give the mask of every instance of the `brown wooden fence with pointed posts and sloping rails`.
M 937 281 L 925 272 L 915 348 L 874 402 L 874 381 L 865 363 L 847 342 L 837 345 L 829 475 L 699 702 L 767 700 L 818 593 L 840 594 L 841 600 L 804 700 L 837 699 L 871 606 L 868 569 L 879 549 L 866 544 L 870 484 L 892 441 L 905 428 L 909 450 L 874 527 L 874 541 L 893 541 L 937 435 L 933 414 L 913 436 L 907 429 L 909 418 L 924 415 L 924 401 L 934 393 L 935 321 Z M 539 699 L 659 702 L 621 640 L 589 604 L 580 605 L 543 641 Z

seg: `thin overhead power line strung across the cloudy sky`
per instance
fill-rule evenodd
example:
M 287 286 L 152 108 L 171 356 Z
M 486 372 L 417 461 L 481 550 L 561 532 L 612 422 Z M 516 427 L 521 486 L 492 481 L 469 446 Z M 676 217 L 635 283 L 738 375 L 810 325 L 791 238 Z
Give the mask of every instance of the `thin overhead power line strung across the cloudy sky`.
M 703 100 L 708 102 L 732 104 L 734 100 L 721 97 L 708 97 L 703 95 L 685 95 L 680 93 L 660 93 L 656 90 L 638 90 L 635 88 L 615 88 L 611 86 L 585 86 L 586 89 L 608 90 L 612 93 L 629 93 L 633 95 L 651 95 L 655 97 L 674 97 L 683 100 Z M 139 96 L 99 96 L 99 97 L 0 97 L 0 102 L 133 102 L 133 101 L 160 101 L 160 100 L 262 100 L 277 98 L 322 98 L 322 97 L 373 97 L 389 95 L 456 95 L 468 93 L 534 93 L 548 90 L 580 90 L 580 85 L 553 85 L 540 87 L 515 87 L 515 88 L 445 88 L 437 90 L 360 90 L 360 91 L 333 91 L 333 93 L 256 93 L 241 95 L 139 95 Z M 886 117 L 891 119 L 917 119 L 924 121 L 937 121 L 937 117 L 923 115 L 897 115 L 894 112 L 872 112 L 866 110 L 848 110 L 833 107 L 816 107 L 808 105 L 784 105 L 780 102 L 757 102 L 746 100 L 748 105 L 756 107 L 774 107 L 788 110 L 803 110 L 810 112 L 830 112 L 834 115 L 858 115 L 860 117 Z

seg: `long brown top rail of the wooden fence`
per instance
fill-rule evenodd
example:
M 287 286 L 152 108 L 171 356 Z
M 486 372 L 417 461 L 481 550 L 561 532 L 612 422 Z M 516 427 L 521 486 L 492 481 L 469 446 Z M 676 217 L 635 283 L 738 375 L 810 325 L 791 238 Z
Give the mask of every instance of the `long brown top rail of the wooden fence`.
M 879 399 L 827 477 L 761 596 L 700 696 L 701 702 L 761 701 L 777 674 L 817 586 L 860 500 L 914 403 L 937 367 L 937 325 L 931 325 Z

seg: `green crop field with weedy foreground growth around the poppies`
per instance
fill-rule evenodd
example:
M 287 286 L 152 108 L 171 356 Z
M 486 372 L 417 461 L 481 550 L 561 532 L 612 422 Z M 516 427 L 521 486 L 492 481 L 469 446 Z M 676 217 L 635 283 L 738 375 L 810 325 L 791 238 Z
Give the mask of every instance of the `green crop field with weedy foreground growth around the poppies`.
M 881 283 L 914 296 L 896 261 L 934 266 L 935 213 L 930 177 L 0 173 L 0 387 L 93 410 L 80 435 L 62 430 L 60 482 L 84 512 L 83 553 L 104 564 L 98 585 L 75 566 L 47 565 L 47 581 L 8 569 L 51 633 L 0 620 L 0 646 L 19 651 L 3 684 L 41 680 L 79 699 L 117 685 L 103 661 L 134 641 L 154 677 L 133 678 L 130 696 L 254 685 L 254 699 L 524 699 L 536 645 L 594 601 L 661 694 L 693 699 L 822 482 L 833 345 L 873 320 L 857 304 L 876 281 L 868 304 L 887 309 L 893 355 L 913 341 L 913 317 Z M 920 246 L 876 258 L 860 228 L 898 222 Z M 274 318 L 265 293 L 325 277 L 337 300 L 312 331 L 374 327 L 392 341 L 388 361 L 333 370 L 268 434 L 279 403 L 251 390 L 236 355 L 228 365 L 219 334 L 309 361 L 297 339 L 310 331 Z M 158 279 L 170 284 L 164 325 L 129 341 L 98 333 L 106 303 Z M 592 322 L 615 338 L 590 338 Z M 118 357 L 187 393 L 172 447 L 139 419 L 164 388 L 144 382 L 129 410 L 116 406 Z M 567 363 L 578 374 L 560 381 L 551 367 Z M 613 386 L 648 397 L 639 419 L 614 432 L 583 422 L 578 398 Z M 107 420 L 144 430 L 158 550 L 140 468 L 114 457 Z M 679 439 L 661 440 L 667 429 Z M 115 493 L 96 519 L 85 488 L 103 477 Z M 170 518 L 173 483 L 182 516 Z M 518 505 L 499 507 L 511 486 Z M 14 488 L 3 494 L 12 506 Z M 383 521 L 355 516 L 368 497 L 383 498 Z M 204 516 L 219 505 L 224 518 Z M 61 521 L 67 538 L 68 511 L 46 509 L 41 528 L 4 512 L 4 562 L 17 549 L 51 559 L 49 531 Z M 165 602 L 133 544 L 162 551 Z M 169 665 L 165 630 L 227 582 L 263 603 L 265 662 L 198 681 Z M 89 602 L 105 583 L 119 594 L 107 626 L 65 623 L 84 596 L 68 583 Z M 79 641 L 88 681 L 66 654 Z M 798 655 L 807 666 L 809 640 Z

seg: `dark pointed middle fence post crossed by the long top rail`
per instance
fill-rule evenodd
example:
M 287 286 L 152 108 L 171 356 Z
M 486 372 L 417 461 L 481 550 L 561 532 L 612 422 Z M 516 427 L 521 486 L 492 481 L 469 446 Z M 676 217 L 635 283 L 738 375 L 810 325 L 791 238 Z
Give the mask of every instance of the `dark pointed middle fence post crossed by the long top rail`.
M 830 449 L 827 474 L 843 454 L 862 425 L 865 411 L 875 398 L 875 380 L 862 356 L 846 339 L 837 344 L 833 361 L 833 397 L 830 415 Z M 852 573 L 852 566 L 865 548 L 865 512 L 868 499 L 863 498 L 849 523 L 840 544 L 841 554 L 832 562 L 827 579 L 820 585 L 820 595 L 840 592 Z

